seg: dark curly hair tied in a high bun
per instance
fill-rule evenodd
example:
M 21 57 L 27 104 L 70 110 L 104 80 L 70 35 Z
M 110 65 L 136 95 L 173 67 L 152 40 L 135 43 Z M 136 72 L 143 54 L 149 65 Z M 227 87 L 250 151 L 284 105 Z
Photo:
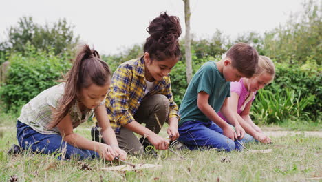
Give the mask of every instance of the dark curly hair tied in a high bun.
M 181 51 L 178 38 L 181 34 L 179 17 L 169 16 L 162 12 L 151 21 L 147 28 L 150 37 L 144 44 L 144 52 L 148 52 L 151 60 L 180 59 Z

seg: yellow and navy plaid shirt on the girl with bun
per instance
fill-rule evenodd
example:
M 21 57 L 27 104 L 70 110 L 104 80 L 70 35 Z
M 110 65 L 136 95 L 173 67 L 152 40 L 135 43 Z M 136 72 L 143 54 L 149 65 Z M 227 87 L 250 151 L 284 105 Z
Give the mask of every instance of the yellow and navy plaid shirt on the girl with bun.
M 163 94 L 169 99 L 169 118 L 177 117 L 180 121 L 178 106 L 173 101 L 169 74 L 161 81 L 155 81 L 154 85 L 153 90 L 144 96 L 147 83 L 144 78 L 143 59 L 132 59 L 122 63 L 114 72 L 105 106 L 111 127 L 116 133 L 120 132 L 122 125 L 135 121 L 133 115 L 136 114 L 140 103 L 154 94 Z

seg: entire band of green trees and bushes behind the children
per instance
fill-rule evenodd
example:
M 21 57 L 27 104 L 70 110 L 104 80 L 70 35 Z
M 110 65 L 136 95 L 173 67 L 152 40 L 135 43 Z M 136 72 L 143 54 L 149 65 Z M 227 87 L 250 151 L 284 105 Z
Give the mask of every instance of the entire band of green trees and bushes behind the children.
M 193 73 L 209 60 L 219 61 L 237 42 L 253 45 L 259 54 L 275 62 L 275 81 L 260 90 L 253 103 L 252 115 L 257 123 L 281 123 L 305 120 L 321 123 L 321 3 L 305 1 L 304 10 L 290 15 L 288 23 L 261 35 L 247 32 L 230 39 L 217 30 L 209 39 L 191 41 Z M 0 43 L 0 63 L 10 62 L 5 83 L 1 83 L 1 100 L 6 112 L 17 112 L 72 65 L 79 37 L 65 19 L 45 26 L 22 17 Z M 120 54 L 102 55 L 111 70 L 124 61 L 140 57 L 143 44 L 133 45 Z M 171 71 L 172 91 L 180 105 L 187 87 L 184 39 L 180 40 L 182 58 Z

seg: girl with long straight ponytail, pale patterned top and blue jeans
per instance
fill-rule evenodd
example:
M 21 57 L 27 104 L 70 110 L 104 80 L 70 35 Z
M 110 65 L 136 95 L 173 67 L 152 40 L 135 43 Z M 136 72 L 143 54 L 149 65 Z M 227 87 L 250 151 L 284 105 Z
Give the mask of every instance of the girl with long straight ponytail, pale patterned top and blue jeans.
M 96 50 L 83 45 L 72 69 L 62 83 L 44 90 L 21 110 L 17 121 L 17 139 L 23 150 L 58 154 L 59 159 L 115 156 L 126 158 L 105 110 L 105 97 L 111 83 L 109 65 Z M 105 143 L 85 139 L 73 132 L 95 113 Z

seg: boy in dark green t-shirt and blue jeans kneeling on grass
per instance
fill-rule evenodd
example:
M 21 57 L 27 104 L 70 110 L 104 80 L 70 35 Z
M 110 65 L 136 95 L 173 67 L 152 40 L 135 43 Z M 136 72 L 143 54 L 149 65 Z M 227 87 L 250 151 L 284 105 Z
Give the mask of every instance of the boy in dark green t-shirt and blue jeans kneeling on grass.
M 227 107 L 230 81 L 250 78 L 257 69 L 258 53 L 246 43 L 237 43 L 219 62 L 208 61 L 198 70 L 184 94 L 180 106 L 179 141 L 190 149 L 208 147 L 239 150 L 247 139 L 235 115 Z M 217 114 L 219 110 L 235 130 Z M 236 131 L 236 132 L 235 132 Z M 244 139 L 243 139 L 244 138 Z

